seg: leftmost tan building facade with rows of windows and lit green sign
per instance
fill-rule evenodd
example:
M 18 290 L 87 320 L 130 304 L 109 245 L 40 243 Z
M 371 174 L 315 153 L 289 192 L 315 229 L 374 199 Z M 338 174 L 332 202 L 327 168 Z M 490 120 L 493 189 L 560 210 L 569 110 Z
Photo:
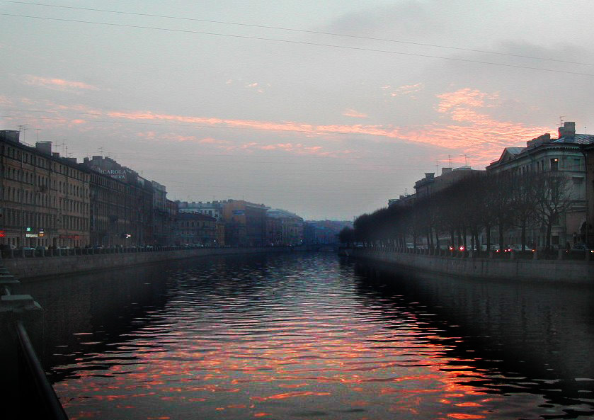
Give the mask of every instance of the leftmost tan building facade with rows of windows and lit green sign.
M 0 243 L 12 246 L 85 246 L 89 243 L 88 171 L 76 159 L 35 147 L 19 132 L 0 131 Z

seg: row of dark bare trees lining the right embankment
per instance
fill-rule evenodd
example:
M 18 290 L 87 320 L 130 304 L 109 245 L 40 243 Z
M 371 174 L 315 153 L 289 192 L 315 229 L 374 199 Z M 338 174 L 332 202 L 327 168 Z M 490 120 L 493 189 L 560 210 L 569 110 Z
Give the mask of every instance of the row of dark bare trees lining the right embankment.
M 423 238 L 430 248 L 440 248 L 440 240 L 447 237 L 451 245 L 478 248 L 484 232 L 489 250 L 492 243 L 503 249 L 506 230 L 519 229 L 524 250 L 527 230 L 544 227 L 545 246 L 550 248 L 553 225 L 573 204 L 569 179 L 559 172 L 473 174 L 411 205 L 360 215 L 354 229 L 343 229 L 340 239 L 367 246 L 417 246 Z

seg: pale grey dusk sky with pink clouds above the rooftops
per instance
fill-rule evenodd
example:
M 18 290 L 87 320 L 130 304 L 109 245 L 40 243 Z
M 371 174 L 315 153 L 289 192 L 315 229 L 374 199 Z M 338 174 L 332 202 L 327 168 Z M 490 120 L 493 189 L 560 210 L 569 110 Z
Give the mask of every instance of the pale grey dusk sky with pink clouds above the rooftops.
M 0 130 L 104 155 L 170 200 L 352 220 L 594 132 L 594 3 L 0 1 Z

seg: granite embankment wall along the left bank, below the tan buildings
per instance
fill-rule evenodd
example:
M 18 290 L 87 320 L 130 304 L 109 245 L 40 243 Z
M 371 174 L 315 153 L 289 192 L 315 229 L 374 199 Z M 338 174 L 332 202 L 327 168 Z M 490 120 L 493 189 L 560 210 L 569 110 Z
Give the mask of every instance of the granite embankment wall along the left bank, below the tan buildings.
M 198 248 L 169 251 L 119 252 L 115 254 L 35 256 L 2 259 L 4 266 L 19 279 L 85 273 L 118 267 L 137 266 L 159 261 L 189 259 L 201 256 L 262 254 L 289 251 L 285 247 L 263 248 Z

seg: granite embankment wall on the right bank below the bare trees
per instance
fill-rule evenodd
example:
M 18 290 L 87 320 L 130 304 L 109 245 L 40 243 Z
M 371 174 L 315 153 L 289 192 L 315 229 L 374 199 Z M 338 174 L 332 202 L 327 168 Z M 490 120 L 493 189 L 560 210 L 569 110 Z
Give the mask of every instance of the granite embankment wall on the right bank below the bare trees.
M 367 249 L 353 249 L 350 255 L 450 276 L 594 284 L 594 261 L 457 258 Z

